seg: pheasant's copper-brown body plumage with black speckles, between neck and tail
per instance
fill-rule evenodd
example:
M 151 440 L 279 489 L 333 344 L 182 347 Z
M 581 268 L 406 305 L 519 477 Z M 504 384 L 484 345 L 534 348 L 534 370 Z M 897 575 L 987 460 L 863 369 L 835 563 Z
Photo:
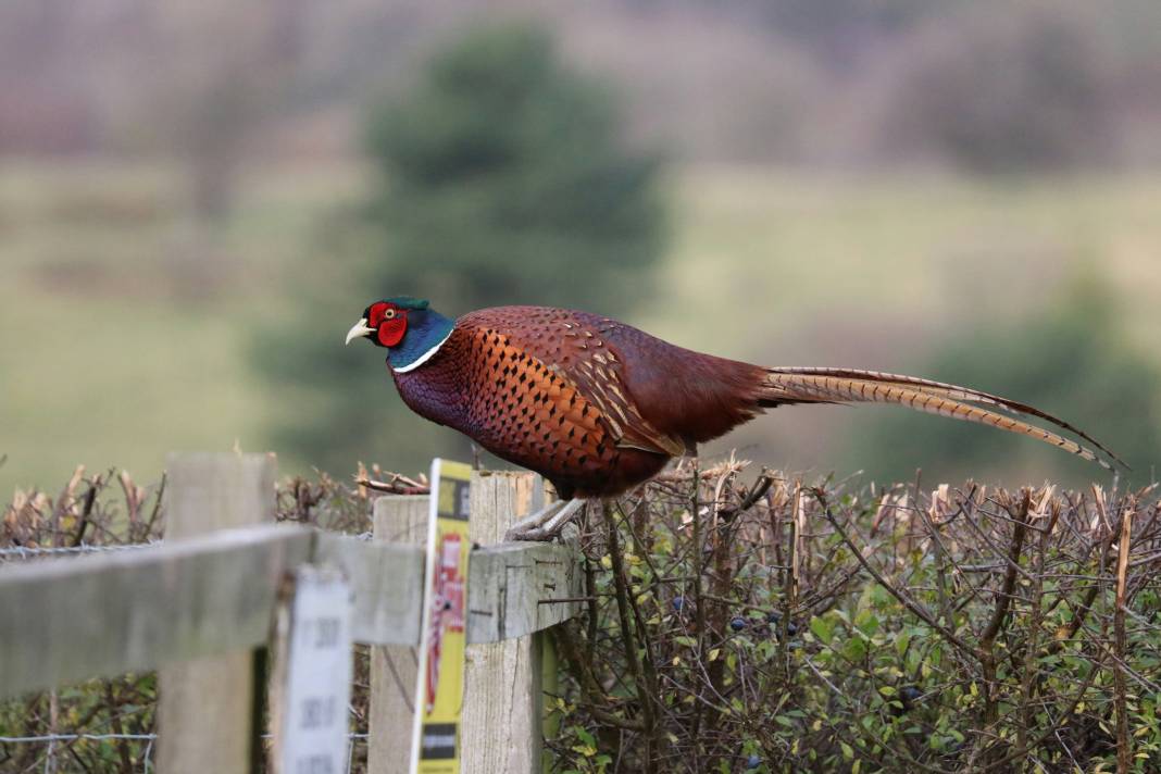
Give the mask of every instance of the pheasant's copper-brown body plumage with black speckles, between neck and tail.
M 650 421 L 656 413 L 668 426 L 672 412 L 662 402 L 640 403 L 636 392 L 664 391 L 666 400 L 680 403 L 691 390 L 677 390 L 673 382 L 690 376 L 690 359 L 701 361 L 698 370 L 714 383 L 723 382 L 723 370 L 742 370 L 751 381 L 760 370 L 594 314 L 504 306 L 460 318 L 430 362 L 392 375 L 416 413 L 542 472 L 562 494 L 596 497 L 646 480 L 670 456 L 736 424 L 723 419 L 680 434 Z M 643 377 L 636 392 L 626 384 L 634 372 Z M 697 400 L 698 391 L 692 392 Z M 737 421 L 757 408 L 731 403 L 726 415 Z

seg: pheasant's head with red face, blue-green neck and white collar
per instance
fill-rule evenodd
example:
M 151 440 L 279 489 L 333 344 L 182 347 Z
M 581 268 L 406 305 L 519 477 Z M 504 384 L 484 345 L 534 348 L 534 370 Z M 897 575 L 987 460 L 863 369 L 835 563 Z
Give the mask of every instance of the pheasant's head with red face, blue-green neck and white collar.
M 434 355 L 454 326 L 453 320 L 430 309 L 427 301 L 396 296 L 376 301 L 365 309 L 359 321 L 347 331 L 347 343 L 353 339 L 369 339 L 389 350 L 388 362 L 394 370 L 406 371 Z

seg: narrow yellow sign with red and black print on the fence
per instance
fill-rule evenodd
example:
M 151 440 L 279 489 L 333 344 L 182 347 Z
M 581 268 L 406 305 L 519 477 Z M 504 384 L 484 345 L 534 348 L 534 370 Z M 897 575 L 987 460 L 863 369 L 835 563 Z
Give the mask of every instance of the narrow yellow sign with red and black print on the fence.
M 457 774 L 463 710 L 463 649 L 468 616 L 468 498 L 471 468 L 432 462 L 432 512 L 424 571 L 411 771 Z

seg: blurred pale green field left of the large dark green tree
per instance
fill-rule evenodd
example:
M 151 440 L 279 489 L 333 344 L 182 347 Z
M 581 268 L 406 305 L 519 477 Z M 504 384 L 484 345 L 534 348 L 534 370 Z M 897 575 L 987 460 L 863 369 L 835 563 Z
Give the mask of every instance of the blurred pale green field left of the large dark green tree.
M 265 448 L 282 392 L 253 372 L 247 330 L 291 302 L 286 273 L 358 178 L 260 175 L 208 244 L 176 169 L 16 165 L 0 181 L 0 491 L 55 487 L 79 463 L 150 480 L 168 450 Z

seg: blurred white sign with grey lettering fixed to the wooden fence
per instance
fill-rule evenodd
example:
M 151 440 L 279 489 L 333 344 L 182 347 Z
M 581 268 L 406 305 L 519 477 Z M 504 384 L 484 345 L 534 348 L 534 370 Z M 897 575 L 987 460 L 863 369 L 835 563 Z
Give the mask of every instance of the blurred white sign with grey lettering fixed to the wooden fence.
M 351 607 L 351 587 L 340 573 L 317 567 L 295 573 L 276 709 L 280 774 L 346 772 Z

